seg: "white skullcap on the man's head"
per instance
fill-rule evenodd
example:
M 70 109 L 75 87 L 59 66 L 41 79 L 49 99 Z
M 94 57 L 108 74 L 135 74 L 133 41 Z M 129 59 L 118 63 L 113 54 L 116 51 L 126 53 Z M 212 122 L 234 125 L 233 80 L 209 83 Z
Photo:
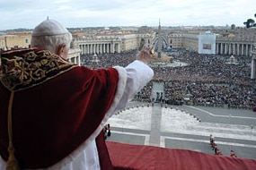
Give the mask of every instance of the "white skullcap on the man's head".
M 42 21 L 33 31 L 32 36 L 55 36 L 66 34 L 68 30 L 64 28 L 59 22 L 54 20 Z

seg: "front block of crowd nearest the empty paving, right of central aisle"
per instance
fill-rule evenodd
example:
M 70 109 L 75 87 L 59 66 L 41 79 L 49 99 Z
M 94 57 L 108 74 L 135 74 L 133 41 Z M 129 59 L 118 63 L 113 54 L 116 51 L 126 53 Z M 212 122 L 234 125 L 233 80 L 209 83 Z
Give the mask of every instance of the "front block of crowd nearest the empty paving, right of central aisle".
M 165 98 L 172 103 L 196 106 L 227 106 L 252 109 L 255 105 L 253 85 L 206 83 L 202 81 L 166 81 Z M 185 96 L 185 97 L 184 97 Z

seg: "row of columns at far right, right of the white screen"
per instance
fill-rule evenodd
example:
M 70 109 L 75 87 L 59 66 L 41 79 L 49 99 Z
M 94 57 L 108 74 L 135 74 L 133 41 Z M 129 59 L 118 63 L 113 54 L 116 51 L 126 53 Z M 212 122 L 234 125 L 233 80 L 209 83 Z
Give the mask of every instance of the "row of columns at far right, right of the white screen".
M 252 44 L 242 43 L 216 43 L 216 55 L 246 55 L 250 56 Z

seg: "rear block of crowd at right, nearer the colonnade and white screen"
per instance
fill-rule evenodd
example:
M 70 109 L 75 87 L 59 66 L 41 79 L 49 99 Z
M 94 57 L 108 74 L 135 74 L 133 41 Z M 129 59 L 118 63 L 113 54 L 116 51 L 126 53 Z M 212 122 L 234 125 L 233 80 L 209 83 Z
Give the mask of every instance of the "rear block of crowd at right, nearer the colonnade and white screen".
M 199 55 L 184 51 L 174 58 L 188 63 L 186 66 L 157 67 L 155 79 L 163 81 L 203 81 L 208 83 L 251 84 L 252 58 L 240 57 L 237 64 L 227 64 L 230 56 Z

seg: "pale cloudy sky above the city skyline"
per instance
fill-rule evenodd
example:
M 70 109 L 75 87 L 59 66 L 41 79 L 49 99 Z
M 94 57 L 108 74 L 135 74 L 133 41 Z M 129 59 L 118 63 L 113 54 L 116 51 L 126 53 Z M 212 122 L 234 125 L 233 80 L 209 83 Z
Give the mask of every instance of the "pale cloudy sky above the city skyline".
M 66 28 L 244 26 L 254 13 L 255 0 L 0 0 L 0 30 L 33 29 L 48 17 Z

